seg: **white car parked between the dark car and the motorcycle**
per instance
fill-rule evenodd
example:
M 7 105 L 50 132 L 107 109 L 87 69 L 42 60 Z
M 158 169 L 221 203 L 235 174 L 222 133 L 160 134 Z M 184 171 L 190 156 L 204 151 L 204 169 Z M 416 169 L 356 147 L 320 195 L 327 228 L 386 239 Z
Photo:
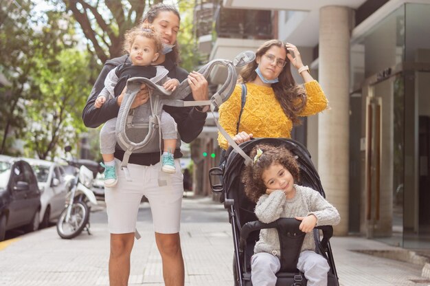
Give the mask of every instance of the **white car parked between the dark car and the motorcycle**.
M 41 189 L 41 228 L 49 222 L 56 222 L 65 208 L 67 195 L 65 170 L 63 166 L 41 159 L 23 158 L 30 163 Z

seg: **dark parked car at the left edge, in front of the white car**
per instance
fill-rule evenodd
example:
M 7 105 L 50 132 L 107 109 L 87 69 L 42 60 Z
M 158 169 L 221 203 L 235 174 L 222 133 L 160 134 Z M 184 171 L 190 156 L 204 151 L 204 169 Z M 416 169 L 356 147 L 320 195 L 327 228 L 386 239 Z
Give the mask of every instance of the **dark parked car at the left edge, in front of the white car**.
M 0 241 L 13 228 L 37 230 L 40 213 L 41 191 L 30 164 L 0 155 Z

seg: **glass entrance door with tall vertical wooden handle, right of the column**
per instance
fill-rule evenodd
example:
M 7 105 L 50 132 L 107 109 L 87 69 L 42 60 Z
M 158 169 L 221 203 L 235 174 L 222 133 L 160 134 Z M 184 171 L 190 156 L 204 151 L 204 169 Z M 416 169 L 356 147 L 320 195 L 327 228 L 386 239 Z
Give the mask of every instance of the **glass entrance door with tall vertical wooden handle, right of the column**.
M 398 73 L 367 85 L 363 150 L 364 231 L 392 245 L 403 243 L 404 84 Z

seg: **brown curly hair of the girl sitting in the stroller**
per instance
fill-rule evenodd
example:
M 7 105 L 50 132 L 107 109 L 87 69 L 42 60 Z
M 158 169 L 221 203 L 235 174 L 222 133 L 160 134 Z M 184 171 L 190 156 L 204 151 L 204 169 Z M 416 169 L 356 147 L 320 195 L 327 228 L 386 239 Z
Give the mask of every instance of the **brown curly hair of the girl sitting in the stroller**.
M 245 194 L 247 197 L 256 203 L 258 199 L 266 193 L 267 187 L 264 185 L 262 173 L 267 170 L 272 164 L 280 164 L 284 166 L 293 175 L 294 181 L 299 181 L 300 170 L 297 159 L 293 153 L 288 151 L 285 146 L 273 146 L 270 144 L 258 144 L 253 147 L 249 157 L 253 158 L 257 154 L 257 150 L 263 151 L 257 161 L 249 166 L 245 166 L 242 171 L 242 182 L 245 186 Z

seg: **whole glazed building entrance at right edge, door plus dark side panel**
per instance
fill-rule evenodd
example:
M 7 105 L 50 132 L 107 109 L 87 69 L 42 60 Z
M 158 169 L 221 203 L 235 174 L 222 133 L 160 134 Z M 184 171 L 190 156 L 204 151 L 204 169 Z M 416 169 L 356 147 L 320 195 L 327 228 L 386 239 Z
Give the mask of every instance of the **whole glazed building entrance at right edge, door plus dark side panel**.
M 403 64 L 362 87 L 361 233 L 430 248 L 430 69 Z

